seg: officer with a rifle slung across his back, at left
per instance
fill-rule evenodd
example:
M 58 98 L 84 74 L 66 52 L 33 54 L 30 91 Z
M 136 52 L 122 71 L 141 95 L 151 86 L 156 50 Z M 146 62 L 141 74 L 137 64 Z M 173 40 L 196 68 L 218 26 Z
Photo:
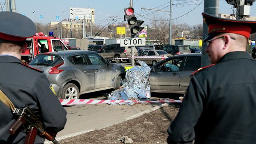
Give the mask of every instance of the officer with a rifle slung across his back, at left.
M 21 53 L 26 51 L 26 38 L 32 37 L 35 24 L 28 17 L 15 12 L 0 12 L 0 89 L 16 108 L 28 105 L 40 116 L 46 130 L 57 133 L 64 129 L 66 110 L 50 89 L 50 82 L 41 71 L 23 65 Z M 22 128 L 9 133 L 15 122 L 12 110 L 0 101 L 0 143 L 23 144 L 26 133 Z M 44 143 L 37 136 L 35 144 Z

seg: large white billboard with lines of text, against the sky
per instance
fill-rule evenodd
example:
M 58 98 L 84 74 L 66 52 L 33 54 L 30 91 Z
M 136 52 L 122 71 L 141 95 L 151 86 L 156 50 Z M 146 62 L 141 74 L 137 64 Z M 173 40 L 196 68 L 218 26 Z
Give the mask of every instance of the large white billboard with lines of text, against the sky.
M 70 19 L 80 19 L 80 20 L 89 20 L 91 19 L 91 14 L 94 9 L 92 8 L 74 8 L 70 7 Z

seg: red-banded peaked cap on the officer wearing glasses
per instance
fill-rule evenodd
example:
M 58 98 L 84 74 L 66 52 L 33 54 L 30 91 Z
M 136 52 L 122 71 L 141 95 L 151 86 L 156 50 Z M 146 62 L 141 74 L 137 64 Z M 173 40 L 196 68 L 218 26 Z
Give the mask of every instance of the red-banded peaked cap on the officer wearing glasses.
M 240 34 L 248 39 L 250 34 L 256 32 L 256 21 L 231 20 L 215 17 L 207 13 L 202 13 L 202 15 L 204 23 L 208 25 L 208 35 L 204 39 L 204 42 L 221 33 Z

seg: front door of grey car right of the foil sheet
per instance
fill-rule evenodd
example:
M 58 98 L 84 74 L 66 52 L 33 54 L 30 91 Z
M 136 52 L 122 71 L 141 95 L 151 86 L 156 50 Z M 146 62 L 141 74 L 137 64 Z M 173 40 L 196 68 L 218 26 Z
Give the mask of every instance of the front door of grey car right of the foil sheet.
M 150 89 L 154 92 L 179 92 L 179 76 L 182 62 L 183 57 L 172 58 L 164 63 L 158 63 L 149 76 Z

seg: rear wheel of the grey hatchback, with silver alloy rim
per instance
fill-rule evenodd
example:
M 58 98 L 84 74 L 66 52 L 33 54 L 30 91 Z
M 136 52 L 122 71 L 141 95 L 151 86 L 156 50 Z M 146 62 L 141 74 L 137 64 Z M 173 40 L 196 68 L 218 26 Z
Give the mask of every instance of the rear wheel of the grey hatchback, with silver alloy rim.
M 61 91 L 61 99 L 79 99 L 80 93 L 77 86 L 73 83 L 69 83 L 64 86 Z M 73 105 L 66 105 L 67 107 L 71 107 Z

